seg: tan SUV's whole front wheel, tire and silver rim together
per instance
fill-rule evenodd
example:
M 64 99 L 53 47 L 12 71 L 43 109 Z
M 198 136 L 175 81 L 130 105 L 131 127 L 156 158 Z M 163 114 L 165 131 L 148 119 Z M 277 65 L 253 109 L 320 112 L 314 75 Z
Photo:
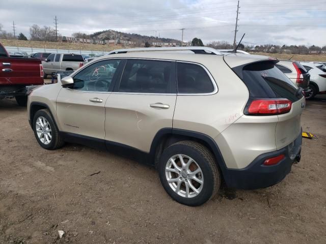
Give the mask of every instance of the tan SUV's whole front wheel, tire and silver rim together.
M 64 145 L 64 140 L 47 109 L 41 109 L 35 113 L 33 130 L 37 142 L 45 149 L 53 150 Z

